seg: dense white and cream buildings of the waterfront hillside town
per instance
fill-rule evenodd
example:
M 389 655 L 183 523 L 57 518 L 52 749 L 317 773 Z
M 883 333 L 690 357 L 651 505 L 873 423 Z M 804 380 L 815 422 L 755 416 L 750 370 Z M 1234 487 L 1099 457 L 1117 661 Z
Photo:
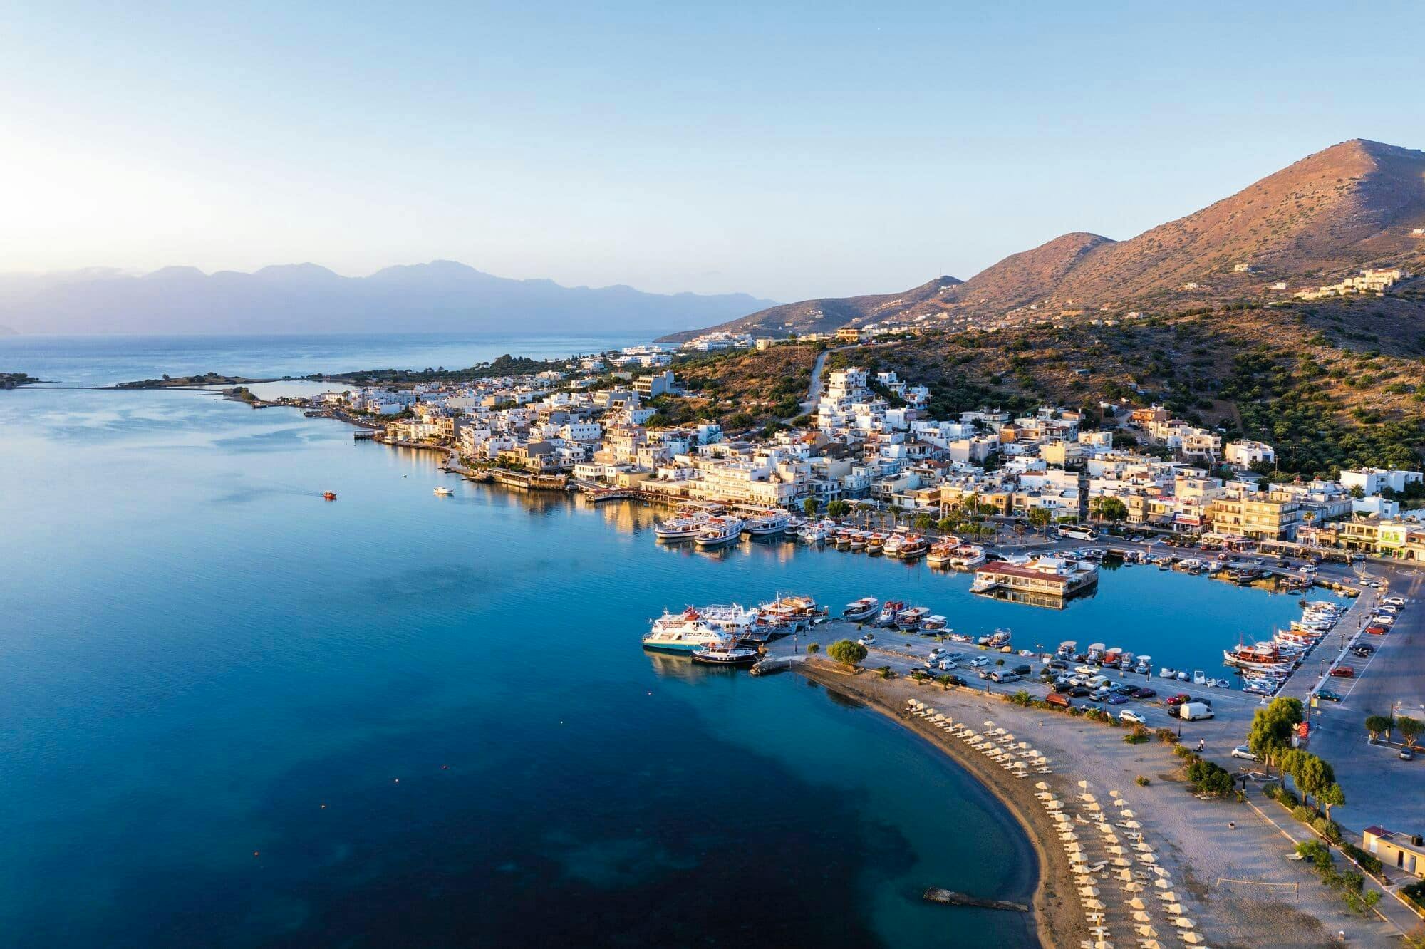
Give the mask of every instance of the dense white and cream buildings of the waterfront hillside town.
M 931 410 L 922 382 L 856 365 L 826 370 L 794 425 L 660 425 L 675 413 L 670 403 L 697 398 L 665 368 L 683 365 L 674 361 L 661 346 L 636 346 L 530 375 L 368 386 L 323 400 L 388 419 L 389 443 L 446 446 L 465 463 L 539 476 L 542 486 L 789 510 L 858 502 L 908 519 L 1099 520 L 1282 550 L 1425 557 L 1425 523 L 1409 509 L 1425 497 L 1418 470 L 1268 483 L 1275 446 L 1224 439 L 1161 405 L 945 416 Z

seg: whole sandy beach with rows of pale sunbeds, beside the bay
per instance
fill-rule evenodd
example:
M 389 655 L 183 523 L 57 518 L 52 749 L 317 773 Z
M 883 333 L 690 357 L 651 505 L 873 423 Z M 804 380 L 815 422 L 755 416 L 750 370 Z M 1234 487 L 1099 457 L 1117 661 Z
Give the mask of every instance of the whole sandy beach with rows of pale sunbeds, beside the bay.
M 851 675 L 824 660 L 798 664 L 798 671 L 923 735 L 1005 802 L 1039 854 L 1040 879 L 1033 912 L 1045 946 L 1077 946 L 1092 936 L 1072 864 L 1059 845 L 1060 829 L 1035 797 L 1040 781 L 1064 801 L 1067 812 L 1076 814 L 1076 836 L 1090 862 L 1114 856 L 1137 858 L 1131 864 L 1136 879 L 1144 883 L 1141 891 L 1121 889 L 1123 881 L 1113 868 L 1099 873 L 1099 881 L 1093 883 L 1099 892 L 1092 898 L 1103 903 L 1102 925 L 1109 930 L 1107 940 L 1114 945 L 1137 945 L 1146 935 L 1139 926 L 1144 925 L 1151 926 L 1164 946 L 1186 945 L 1176 923 L 1180 916 L 1193 922 L 1193 932 L 1201 939 L 1198 945 L 1207 946 L 1330 946 L 1341 945 L 1338 933 L 1345 933 L 1351 945 L 1395 945 L 1398 932 L 1394 926 L 1375 915 L 1351 912 L 1340 893 L 1322 886 L 1308 866 L 1288 859 L 1292 842 L 1282 829 L 1261 819 L 1244 804 L 1197 799 L 1181 777 L 1180 759 L 1167 744 L 1156 740 L 1127 744 L 1120 728 L 1020 708 L 973 688 L 946 691 L 908 678 L 882 680 L 872 673 Z M 911 698 L 978 731 L 983 730 L 985 721 L 993 721 L 1045 752 L 1053 774 L 1016 778 L 942 727 L 909 714 L 906 702 Z M 1228 751 L 1207 748 L 1206 755 L 1226 765 Z M 1139 777 L 1147 778 L 1147 787 L 1136 782 Z M 1080 781 L 1087 781 L 1089 787 L 1082 788 Z M 1110 854 L 1113 844 L 1106 846 L 1093 825 L 1080 822 L 1077 814 L 1093 807 L 1080 799 L 1083 794 L 1094 795 L 1099 807 L 1112 811 L 1110 791 L 1119 792 L 1133 812 L 1139 828 L 1131 832 L 1141 834 L 1141 841 L 1120 839 L 1116 844 L 1126 856 Z M 1304 839 L 1284 811 L 1268 808 L 1265 814 Z M 1114 821 L 1116 826 L 1120 824 Z M 1129 835 L 1127 829 L 1116 832 Z M 1139 842 L 1151 848 L 1151 864 L 1143 862 L 1143 852 L 1131 849 Z M 1159 875 L 1154 866 L 1167 875 L 1170 889 L 1154 885 Z M 1159 899 L 1161 891 L 1170 892 L 1174 901 Z M 1141 901 L 1143 909 L 1129 905 L 1127 901 L 1134 898 Z M 1170 913 L 1167 906 L 1180 909 Z

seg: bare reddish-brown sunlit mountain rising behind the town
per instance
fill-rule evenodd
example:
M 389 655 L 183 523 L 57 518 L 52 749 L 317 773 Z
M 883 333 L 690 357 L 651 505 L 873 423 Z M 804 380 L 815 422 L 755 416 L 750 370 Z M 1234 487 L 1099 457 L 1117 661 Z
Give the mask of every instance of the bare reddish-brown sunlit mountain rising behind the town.
M 1422 227 L 1425 152 L 1355 138 L 1129 241 L 1064 234 L 965 282 L 940 276 L 903 294 L 785 304 L 712 329 L 785 336 L 885 321 L 955 325 L 1268 292 L 1285 298 L 1270 284 L 1284 281 L 1291 291 L 1385 264 L 1419 274 L 1425 238 L 1412 231 Z

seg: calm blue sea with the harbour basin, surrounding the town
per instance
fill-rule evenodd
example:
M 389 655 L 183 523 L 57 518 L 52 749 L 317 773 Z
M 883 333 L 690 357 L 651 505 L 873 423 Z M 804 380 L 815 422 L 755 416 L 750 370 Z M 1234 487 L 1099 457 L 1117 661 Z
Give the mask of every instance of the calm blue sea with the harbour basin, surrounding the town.
M 97 386 L 631 342 L 19 336 L 0 372 Z M 647 654 L 650 618 L 896 597 L 1017 645 L 1220 668 L 1298 608 L 1134 567 L 1053 611 L 791 541 L 658 544 L 656 517 L 215 393 L 0 390 L 3 942 L 1036 945 L 1016 913 L 921 899 L 1033 892 L 1029 841 L 966 772 L 798 675 Z

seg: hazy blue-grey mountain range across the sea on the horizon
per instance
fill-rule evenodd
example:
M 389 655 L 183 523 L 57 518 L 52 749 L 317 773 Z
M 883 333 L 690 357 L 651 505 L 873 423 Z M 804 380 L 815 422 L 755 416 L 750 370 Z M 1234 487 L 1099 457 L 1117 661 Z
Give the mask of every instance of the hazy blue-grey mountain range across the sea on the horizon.
M 26 333 L 383 331 L 668 332 L 772 301 L 745 294 L 644 294 L 631 286 L 516 281 L 433 261 L 341 276 L 315 264 L 252 274 L 167 266 L 0 275 L 0 323 Z

